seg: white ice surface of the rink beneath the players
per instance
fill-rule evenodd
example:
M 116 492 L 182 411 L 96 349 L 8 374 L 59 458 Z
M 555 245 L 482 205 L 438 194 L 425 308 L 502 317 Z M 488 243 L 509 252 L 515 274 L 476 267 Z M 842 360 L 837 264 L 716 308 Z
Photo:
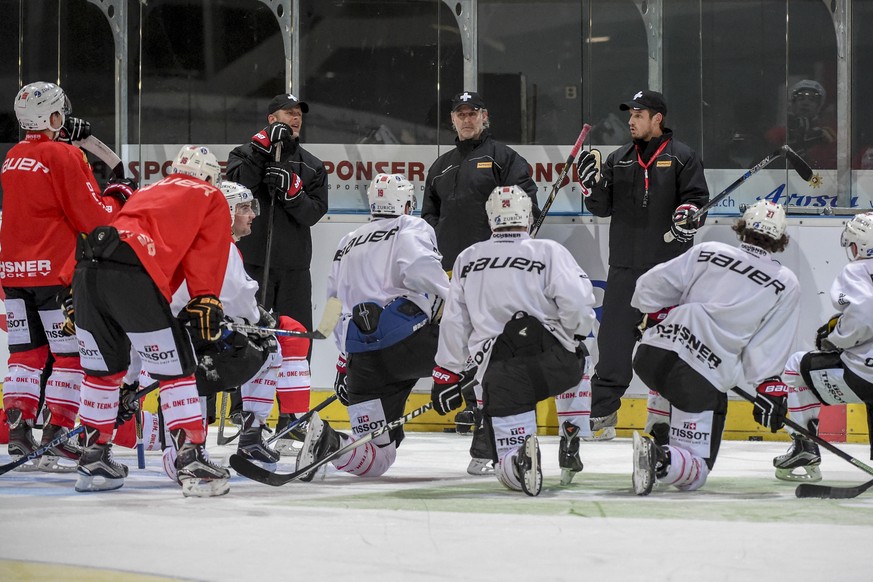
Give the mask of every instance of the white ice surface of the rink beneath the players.
M 118 491 L 76 493 L 75 474 L 7 473 L 0 580 L 873 580 L 873 491 L 796 499 L 773 477 L 786 443 L 727 441 L 703 490 L 645 498 L 630 490 L 629 439 L 583 443 L 585 470 L 562 487 L 558 439 L 541 437 L 537 498 L 468 476 L 468 445 L 408 433 L 381 478 L 329 472 L 272 488 L 235 476 L 211 499 L 183 498 L 159 454 L 140 471 L 127 449 L 116 453 L 131 466 Z M 867 446 L 840 446 L 871 464 Z M 233 451 L 210 447 L 218 460 Z M 825 482 L 870 478 L 823 455 Z

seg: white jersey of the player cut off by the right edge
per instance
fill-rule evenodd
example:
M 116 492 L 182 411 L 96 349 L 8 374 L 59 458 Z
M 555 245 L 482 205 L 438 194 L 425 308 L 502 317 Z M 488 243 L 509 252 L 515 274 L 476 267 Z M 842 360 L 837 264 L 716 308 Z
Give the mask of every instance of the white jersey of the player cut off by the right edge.
M 873 382 L 873 260 L 843 268 L 831 285 L 831 303 L 842 317 L 828 339 L 843 349 L 846 367 Z

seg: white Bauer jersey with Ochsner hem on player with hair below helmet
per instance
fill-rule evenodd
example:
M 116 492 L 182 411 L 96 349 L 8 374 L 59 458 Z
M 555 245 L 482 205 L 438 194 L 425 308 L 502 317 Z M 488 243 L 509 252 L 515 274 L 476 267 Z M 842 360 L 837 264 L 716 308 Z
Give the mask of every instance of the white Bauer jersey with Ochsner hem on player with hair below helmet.
M 723 392 L 779 376 L 800 320 L 797 277 L 763 249 L 696 245 L 637 280 L 643 313 L 676 306 L 642 342 L 676 352 Z

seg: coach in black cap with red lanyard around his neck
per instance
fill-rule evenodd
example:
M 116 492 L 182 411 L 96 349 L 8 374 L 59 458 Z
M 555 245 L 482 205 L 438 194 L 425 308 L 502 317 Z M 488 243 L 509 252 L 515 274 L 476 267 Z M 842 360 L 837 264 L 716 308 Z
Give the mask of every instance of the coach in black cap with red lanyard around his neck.
M 578 162 L 585 207 L 610 217 L 609 274 L 591 378 L 591 429 L 597 440 L 615 436 L 621 397 L 633 377 L 635 328 L 642 319 L 630 305 L 637 278 L 691 247 L 700 224 L 686 220 L 709 200 L 700 156 L 664 126 L 664 96 L 637 91 L 619 109 L 630 114 L 633 141 L 609 154 L 601 170 L 590 152 Z M 667 231 L 675 237 L 669 243 Z M 669 417 L 650 414 L 647 432 L 654 436 L 663 429 L 652 432 L 656 421 L 668 423 L 669 430 Z

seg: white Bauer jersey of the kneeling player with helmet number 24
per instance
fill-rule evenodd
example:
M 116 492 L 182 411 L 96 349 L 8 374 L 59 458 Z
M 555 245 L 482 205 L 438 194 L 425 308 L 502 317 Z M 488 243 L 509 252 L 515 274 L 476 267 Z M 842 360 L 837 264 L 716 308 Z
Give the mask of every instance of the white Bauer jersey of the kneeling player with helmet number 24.
M 594 325 L 594 290 L 560 244 L 526 232 L 495 233 L 455 261 L 436 364 L 462 372 L 472 358 L 481 381 L 494 339 L 518 311 L 536 317 L 574 351 L 573 336 L 586 337 Z

